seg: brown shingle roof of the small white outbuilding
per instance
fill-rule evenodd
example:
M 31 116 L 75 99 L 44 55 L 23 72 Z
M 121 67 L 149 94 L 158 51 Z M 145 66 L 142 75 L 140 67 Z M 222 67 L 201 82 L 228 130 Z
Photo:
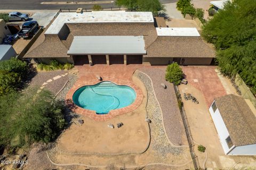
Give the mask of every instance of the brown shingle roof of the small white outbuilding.
M 235 146 L 256 143 L 256 117 L 244 98 L 233 94 L 216 98 L 215 104 Z

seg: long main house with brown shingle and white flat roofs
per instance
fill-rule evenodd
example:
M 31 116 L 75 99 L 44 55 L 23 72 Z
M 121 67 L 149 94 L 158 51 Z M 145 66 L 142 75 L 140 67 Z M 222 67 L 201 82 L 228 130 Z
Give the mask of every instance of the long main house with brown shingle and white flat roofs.
M 165 29 L 161 34 L 156 25 L 151 12 L 63 12 L 24 57 L 75 65 L 211 64 L 214 50 L 205 45 L 196 29 L 164 28 L 161 24 Z

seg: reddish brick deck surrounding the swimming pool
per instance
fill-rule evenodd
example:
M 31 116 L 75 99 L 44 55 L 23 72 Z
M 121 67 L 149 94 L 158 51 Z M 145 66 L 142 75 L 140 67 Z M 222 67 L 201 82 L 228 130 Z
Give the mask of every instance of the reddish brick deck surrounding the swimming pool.
M 133 72 L 138 69 L 138 67 L 141 67 L 141 65 L 94 65 L 94 66 L 76 66 L 79 72 L 79 77 L 77 82 L 74 84 L 74 86 L 68 91 L 66 100 L 71 102 L 75 107 L 72 107 L 72 111 L 78 114 L 82 114 L 85 116 L 88 116 L 92 118 L 95 121 L 107 121 L 111 118 L 122 115 L 125 113 L 129 113 L 137 109 L 143 99 L 143 94 L 141 89 L 136 86 L 132 81 L 132 74 Z M 136 99 L 135 101 L 123 108 L 111 110 L 108 114 L 96 114 L 95 111 L 91 111 L 88 109 L 84 109 L 82 107 L 78 107 L 73 103 L 73 94 L 74 92 L 83 87 L 88 85 L 97 84 L 100 81 L 97 80 L 97 75 L 99 75 L 103 81 L 111 81 L 118 85 L 126 85 L 133 88 L 136 92 Z M 70 104 L 70 103 L 69 103 Z

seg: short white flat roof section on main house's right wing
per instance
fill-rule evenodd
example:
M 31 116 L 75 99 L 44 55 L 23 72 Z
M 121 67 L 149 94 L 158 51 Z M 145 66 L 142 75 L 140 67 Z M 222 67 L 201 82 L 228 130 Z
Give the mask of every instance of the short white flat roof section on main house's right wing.
M 156 28 L 157 36 L 200 37 L 196 28 Z

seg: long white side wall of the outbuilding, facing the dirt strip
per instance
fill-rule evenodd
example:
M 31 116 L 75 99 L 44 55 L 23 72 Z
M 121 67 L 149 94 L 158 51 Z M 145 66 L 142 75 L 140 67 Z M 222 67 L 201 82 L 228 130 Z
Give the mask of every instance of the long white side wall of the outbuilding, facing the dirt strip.
M 228 138 L 229 133 L 228 133 L 228 130 L 227 130 L 227 127 L 226 127 L 224 121 L 222 120 L 219 109 L 217 108 L 217 110 L 215 112 L 213 112 L 212 105 L 211 105 L 210 108 L 209 108 L 209 112 L 212 116 L 213 123 L 214 123 L 215 128 L 218 132 L 218 136 L 219 136 L 219 139 L 220 139 L 221 146 L 222 146 L 225 154 L 228 154 L 229 151 L 233 150 L 235 146 L 231 147 L 230 149 L 228 148 L 226 139 Z

